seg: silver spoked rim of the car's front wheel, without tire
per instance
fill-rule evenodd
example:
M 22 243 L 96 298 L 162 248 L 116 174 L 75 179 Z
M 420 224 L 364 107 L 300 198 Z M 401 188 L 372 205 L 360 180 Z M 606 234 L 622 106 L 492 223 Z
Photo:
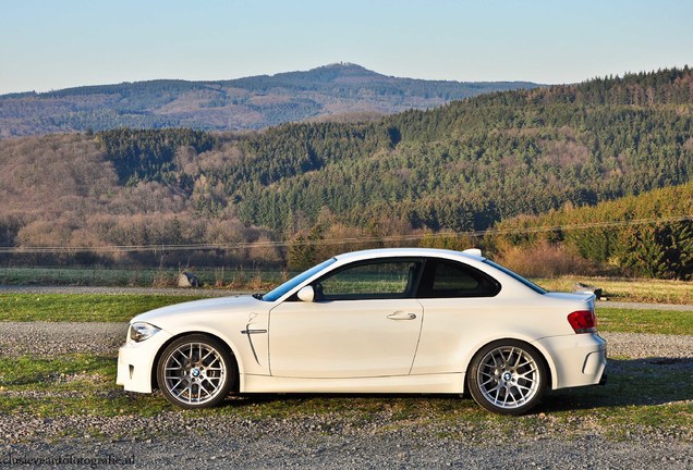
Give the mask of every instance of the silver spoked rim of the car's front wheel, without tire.
M 200 406 L 226 395 L 227 371 L 218 348 L 203 342 L 183 343 L 165 358 L 162 386 L 178 403 Z

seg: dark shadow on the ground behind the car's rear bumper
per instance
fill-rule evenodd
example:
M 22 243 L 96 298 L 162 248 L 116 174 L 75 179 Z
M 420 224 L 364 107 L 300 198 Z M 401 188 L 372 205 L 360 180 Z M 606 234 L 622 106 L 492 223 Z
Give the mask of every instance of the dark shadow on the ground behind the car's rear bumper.
M 548 393 L 535 410 L 665 405 L 693 399 L 693 357 L 609 359 L 607 383 Z

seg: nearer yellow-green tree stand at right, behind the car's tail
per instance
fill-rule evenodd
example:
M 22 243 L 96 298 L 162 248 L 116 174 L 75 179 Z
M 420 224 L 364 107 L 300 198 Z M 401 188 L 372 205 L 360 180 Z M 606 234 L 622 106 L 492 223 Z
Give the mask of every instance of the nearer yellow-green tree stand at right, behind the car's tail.
M 516 217 L 494 230 L 489 238 L 497 247 L 549 240 L 629 274 L 693 280 L 693 182 L 593 207 Z

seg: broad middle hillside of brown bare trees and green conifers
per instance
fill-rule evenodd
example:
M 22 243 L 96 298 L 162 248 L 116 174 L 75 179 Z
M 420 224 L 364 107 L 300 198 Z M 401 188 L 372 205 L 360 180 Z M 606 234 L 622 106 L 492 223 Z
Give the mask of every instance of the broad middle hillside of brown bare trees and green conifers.
M 496 92 L 360 124 L 4 139 L 0 164 L 4 245 L 478 231 L 691 182 L 693 73 Z

